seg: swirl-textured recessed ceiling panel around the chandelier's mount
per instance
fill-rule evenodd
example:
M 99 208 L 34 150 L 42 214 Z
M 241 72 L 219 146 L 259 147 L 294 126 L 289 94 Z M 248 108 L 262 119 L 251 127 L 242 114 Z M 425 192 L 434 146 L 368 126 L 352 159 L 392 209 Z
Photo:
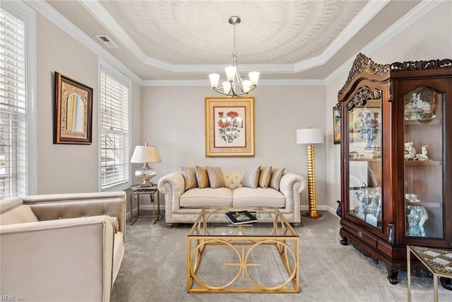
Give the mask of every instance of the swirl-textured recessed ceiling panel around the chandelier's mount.
M 321 54 L 366 1 L 102 1 L 148 57 L 171 64 L 294 64 Z

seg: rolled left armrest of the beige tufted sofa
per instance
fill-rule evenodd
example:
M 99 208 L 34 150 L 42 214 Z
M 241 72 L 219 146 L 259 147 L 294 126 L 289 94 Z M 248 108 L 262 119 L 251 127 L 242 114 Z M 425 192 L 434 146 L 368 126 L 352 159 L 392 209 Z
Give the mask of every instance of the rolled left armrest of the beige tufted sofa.
M 157 187 L 165 194 L 165 220 L 171 223 L 171 213 L 180 209 L 179 199 L 185 191 L 184 176 L 180 172 L 165 175 L 160 178 Z

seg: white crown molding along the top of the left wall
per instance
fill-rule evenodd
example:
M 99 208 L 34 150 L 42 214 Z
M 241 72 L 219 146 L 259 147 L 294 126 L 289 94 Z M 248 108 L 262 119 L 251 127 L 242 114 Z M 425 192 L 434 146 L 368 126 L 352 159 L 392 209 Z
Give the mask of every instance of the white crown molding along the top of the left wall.
M 141 84 L 143 81 L 138 75 L 136 75 L 129 67 L 120 62 L 117 58 L 115 58 L 112 54 L 107 52 L 102 46 L 97 44 L 91 37 L 83 33 L 76 25 L 73 25 L 71 21 L 69 21 L 66 17 L 61 15 L 55 8 L 47 4 L 44 0 L 33 0 L 33 1 L 25 1 L 28 6 L 35 9 L 38 13 L 41 13 L 42 16 L 47 18 L 49 21 L 55 23 L 59 28 L 64 30 L 66 33 L 71 35 L 74 39 L 81 42 L 83 45 L 88 47 L 90 50 L 95 52 L 98 56 L 102 57 L 106 62 L 115 66 L 119 71 L 129 76 L 132 81 L 135 81 L 138 84 Z

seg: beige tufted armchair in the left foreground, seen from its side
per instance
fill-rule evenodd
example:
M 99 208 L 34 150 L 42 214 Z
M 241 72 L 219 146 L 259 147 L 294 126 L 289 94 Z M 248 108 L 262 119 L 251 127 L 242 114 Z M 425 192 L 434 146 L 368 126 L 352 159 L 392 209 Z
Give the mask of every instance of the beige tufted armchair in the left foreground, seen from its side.
M 0 201 L 0 289 L 24 301 L 109 301 L 124 255 L 126 194 Z

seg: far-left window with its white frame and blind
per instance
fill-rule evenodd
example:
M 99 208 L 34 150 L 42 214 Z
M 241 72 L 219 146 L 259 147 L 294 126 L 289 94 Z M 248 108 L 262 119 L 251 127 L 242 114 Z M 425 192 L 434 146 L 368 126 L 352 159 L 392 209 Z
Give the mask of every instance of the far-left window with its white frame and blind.
M 14 4 L 12 4 L 14 5 Z M 0 199 L 33 194 L 36 190 L 34 92 L 30 86 L 34 64 L 35 16 L 13 6 L 0 8 Z M 35 154 L 33 154 L 35 156 Z

